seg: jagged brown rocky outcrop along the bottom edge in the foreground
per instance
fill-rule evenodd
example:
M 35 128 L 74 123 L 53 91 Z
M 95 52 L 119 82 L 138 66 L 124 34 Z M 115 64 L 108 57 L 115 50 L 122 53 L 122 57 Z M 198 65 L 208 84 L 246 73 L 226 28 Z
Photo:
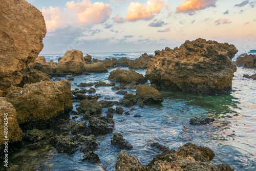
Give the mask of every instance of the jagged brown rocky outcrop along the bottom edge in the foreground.
M 116 170 L 233 170 L 228 164 L 213 165 L 215 154 L 208 147 L 187 143 L 177 151 L 167 150 L 157 155 L 148 165 L 121 151 L 117 157 Z

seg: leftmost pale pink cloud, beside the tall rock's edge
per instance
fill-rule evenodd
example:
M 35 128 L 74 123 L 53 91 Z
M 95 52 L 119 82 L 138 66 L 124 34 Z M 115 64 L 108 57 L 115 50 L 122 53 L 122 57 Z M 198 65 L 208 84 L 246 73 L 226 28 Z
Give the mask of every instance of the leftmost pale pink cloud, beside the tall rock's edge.
M 68 15 L 61 13 L 58 7 L 43 8 L 41 12 L 45 17 L 47 31 L 54 31 L 67 24 Z

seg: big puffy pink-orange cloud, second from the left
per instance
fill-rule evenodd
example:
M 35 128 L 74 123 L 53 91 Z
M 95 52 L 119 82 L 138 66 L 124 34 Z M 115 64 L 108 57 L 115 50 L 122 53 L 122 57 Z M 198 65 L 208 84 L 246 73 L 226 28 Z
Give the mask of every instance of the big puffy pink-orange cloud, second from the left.
M 75 3 L 74 1 L 67 2 L 65 9 L 67 13 L 72 13 L 71 20 L 76 20 L 76 23 L 86 26 L 104 23 L 109 19 L 112 9 L 109 4 L 94 3 L 89 0 Z

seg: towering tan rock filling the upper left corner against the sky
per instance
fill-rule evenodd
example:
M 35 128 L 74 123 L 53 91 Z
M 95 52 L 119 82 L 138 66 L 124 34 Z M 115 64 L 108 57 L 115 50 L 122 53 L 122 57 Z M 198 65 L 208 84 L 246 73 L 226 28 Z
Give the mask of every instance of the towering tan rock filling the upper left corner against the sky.
M 25 0 L 0 3 L 0 96 L 22 81 L 22 71 L 44 45 L 44 16 Z

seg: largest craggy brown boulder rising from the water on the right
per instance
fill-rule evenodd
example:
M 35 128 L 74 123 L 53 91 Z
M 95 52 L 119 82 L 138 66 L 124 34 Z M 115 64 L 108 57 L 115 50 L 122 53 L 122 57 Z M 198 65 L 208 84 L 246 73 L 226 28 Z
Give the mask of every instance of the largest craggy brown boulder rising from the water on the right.
M 237 67 L 231 59 L 236 47 L 199 38 L 185 41 L 180 48 L 155 51 L 146 78 L 158 89 L 200 94 L 225 94 L 232 87 Z

